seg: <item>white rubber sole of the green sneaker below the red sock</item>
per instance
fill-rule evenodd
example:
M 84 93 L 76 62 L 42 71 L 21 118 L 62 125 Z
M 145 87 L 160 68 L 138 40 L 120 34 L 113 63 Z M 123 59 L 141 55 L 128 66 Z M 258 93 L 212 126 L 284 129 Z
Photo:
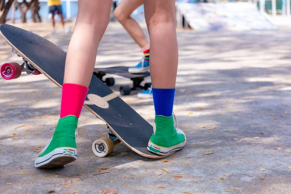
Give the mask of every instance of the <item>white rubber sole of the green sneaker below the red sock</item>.
M 72 147 L 59 147 L 43 157 L 35 159 L 36 168 L 61 168 L 77 160 L 77 149 Z

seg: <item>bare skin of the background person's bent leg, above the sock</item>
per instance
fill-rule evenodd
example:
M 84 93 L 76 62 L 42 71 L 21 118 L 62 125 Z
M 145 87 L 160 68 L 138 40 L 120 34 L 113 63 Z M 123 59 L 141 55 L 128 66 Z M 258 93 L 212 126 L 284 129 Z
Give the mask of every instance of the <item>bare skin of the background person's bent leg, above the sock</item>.
M 122 0 L 114 10 L 116 19 L 141 48 L 148 46 L 149 42 L 140 25 L 130 15 L 143 3 L 144 0 Z

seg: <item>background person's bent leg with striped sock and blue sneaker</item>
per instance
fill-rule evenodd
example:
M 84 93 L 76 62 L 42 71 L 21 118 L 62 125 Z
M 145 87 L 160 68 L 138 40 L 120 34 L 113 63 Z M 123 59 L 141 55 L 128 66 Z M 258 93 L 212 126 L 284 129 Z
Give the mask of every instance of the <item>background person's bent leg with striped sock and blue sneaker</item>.
M 149 42 L 140 25 L 130 16 L 141 6 L 144 0 L 122 0 L 114 10 L 114 16 L 123 25 L 129 35 L 141 47 L 145 58 L 138 65 L 129 68 L 130 73 L 142 73 L 149 70 Z

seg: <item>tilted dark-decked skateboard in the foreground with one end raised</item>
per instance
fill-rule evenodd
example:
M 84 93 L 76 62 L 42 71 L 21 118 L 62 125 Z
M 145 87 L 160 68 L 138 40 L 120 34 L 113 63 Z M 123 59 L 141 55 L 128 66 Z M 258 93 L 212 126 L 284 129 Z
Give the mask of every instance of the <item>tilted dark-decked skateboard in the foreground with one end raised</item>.
M 66 58 L 64 50 L 39 35 L 8 24 L 0 25 L 0 35 L 23 59 L 22 65 L 6 63 L 1 66 L 0 73 L 5 80 L 16 79 L 23 71 L 34 75 L 42 73 L 62 88 Z M 110 129 L 108 137 L 93 143 L 92 150 L 96 156 L 104 157 L 112 153 L 114 146 L 120 142 L 146 158 L 160 159 L 174 153 L 161 156 L 148 151 L 147 143 L 153 126 L 95 75 L 92 75 L 84 107 Z

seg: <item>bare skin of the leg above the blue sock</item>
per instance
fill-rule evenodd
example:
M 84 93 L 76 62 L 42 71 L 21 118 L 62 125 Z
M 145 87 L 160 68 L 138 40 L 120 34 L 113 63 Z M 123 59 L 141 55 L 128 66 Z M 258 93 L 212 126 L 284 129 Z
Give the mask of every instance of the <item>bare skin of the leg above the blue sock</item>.
M 154 88 L 175 88 L 178 69 L 175 0 L 145 0 Z

